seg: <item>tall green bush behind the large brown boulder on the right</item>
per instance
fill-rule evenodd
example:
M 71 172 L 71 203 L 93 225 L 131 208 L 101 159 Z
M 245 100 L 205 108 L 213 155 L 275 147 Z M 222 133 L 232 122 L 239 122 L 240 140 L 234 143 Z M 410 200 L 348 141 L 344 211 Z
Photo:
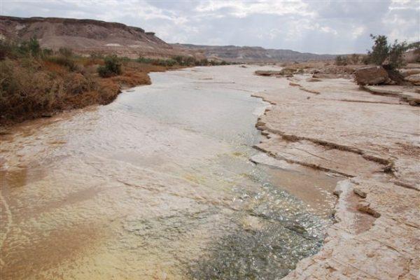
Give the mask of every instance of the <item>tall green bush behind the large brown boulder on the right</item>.
M 374 36 L 370 34 L 374 44 L 372 50 L 367 52 L 369 62 L 376 65 L 386 66 L 388 69 L 396 69 L 404 64 L 402 55 L 407 50 L 407 43 L 388 44 L 388 39 L 384 35 Z

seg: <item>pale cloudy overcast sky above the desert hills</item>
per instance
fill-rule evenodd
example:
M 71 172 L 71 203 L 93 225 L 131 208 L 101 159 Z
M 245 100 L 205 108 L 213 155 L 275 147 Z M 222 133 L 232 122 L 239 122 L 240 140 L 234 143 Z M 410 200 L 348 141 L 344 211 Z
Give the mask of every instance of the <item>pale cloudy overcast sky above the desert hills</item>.
M 414 1 L 10 1 L 1 15 L 92 18 L 155 31 L 169 43 L 365 52 L 369 34 L 419 41 Z

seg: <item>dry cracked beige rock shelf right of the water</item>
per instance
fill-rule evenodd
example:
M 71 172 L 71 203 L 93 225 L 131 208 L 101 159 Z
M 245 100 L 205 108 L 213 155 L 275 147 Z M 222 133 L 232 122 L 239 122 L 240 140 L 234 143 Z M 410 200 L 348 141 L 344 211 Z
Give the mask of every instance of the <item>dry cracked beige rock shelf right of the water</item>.
M 283 88 L 256 94 L 273 105 L 257 123 L 268 156 L 253 160 L 346 177 L 323 248 L 285 279 L 420 279 L 420 108 L 349 79 L 267 83 Z

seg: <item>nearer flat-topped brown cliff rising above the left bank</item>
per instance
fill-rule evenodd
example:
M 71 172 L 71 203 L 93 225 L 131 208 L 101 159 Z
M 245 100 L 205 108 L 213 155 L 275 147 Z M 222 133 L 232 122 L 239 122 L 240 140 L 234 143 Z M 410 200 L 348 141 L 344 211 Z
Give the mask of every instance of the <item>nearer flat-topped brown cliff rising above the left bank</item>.
M 100 20 L 1 16 L 0 36 L 15 40 L 36 36 L 43 48 L 57 50 L 65 47 L 83 54 L 112 52 L 127 57 L 169 57 L 182 53 L 182 50 L 174 50 L 153 32 Z

